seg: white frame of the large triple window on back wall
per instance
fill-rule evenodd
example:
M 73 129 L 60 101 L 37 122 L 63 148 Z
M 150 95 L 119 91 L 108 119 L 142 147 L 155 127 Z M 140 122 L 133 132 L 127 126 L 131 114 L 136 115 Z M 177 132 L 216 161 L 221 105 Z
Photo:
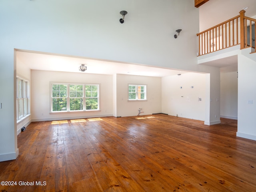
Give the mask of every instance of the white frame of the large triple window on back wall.
M 53 85 L 66 85 L 66 110 L 59 110 L 59 111 L 53 111 Z M 71 85 L 82 85 L 82 97 L 73 97 L 70 96 L 70 86 Z M 86 86 L 97 86 L 97 109 L 86 109 Z M 72 91 L 71 91 L 72 92 Z M 77 94 L 76 94 L 77 95 Z M 70 110 L 70 99 L 74 98 L 82 98 L 82 110 Z M 88 112 L 88 111 L 100 111 L 100 84 L 88 84 L 88 83 L 56 83 L 56 82 L 50 82 L 50 113 L 59 113 L 59 112 Z

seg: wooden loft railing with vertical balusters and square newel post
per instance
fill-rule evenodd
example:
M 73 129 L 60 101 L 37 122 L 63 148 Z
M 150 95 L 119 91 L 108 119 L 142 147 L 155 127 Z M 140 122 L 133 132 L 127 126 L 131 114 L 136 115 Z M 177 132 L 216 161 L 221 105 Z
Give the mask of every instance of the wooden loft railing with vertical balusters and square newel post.
M 240 15 L 235 16 L 234 18 L 196 34 L 199 37 L 198 56 L 236 46 L 238 44 L 240 44 L 240 49 L 255 47 L 255 41 L 252 40 L 252 31 L 254 29 L 255 38 L 256 20 L 244 16 L 245 10 L 242 10 L 239 13 Z

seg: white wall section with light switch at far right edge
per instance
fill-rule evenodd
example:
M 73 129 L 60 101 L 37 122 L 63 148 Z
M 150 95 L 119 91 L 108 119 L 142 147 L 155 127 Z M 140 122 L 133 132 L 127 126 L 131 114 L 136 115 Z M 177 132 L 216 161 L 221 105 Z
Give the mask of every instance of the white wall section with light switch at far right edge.
M 255 54 L 255 53 L 254 53 Z M 256 62 L 238 55 L 238 128 L 236 135 L 256 140 Z M 248 104 L 252 100 L 252 104 Z

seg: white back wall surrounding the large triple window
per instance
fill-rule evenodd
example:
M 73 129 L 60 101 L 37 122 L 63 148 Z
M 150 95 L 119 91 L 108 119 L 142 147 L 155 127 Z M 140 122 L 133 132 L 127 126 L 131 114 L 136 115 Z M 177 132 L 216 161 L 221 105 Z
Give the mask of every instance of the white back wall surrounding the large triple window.
M 50 82 L 100 84 L 100 111 L 50 113 Z M 112 75 L 31 70 L 32 121 L 113 115 Z

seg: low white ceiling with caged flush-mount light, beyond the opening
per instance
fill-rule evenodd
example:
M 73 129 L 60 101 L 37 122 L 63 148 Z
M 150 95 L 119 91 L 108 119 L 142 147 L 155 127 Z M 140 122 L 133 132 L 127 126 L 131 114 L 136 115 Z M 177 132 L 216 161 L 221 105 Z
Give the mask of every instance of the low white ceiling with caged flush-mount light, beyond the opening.
M 42 52 L 29 52 L 17 50 L 17 65 L 31 70 L 46 70 L 59 72 L 79 72 L 84 74 L 127 74 L 139 76 L 164 77 L 176 74 L 184 74 L 187 71 L 180 71 L 170 68 L 157 68 L 140 64 L 116 62 L 109 60 L 98 60 L 93 58 L 77 58 Z M 79 66 L 87 66 L 85 72 L 79 71 Z

